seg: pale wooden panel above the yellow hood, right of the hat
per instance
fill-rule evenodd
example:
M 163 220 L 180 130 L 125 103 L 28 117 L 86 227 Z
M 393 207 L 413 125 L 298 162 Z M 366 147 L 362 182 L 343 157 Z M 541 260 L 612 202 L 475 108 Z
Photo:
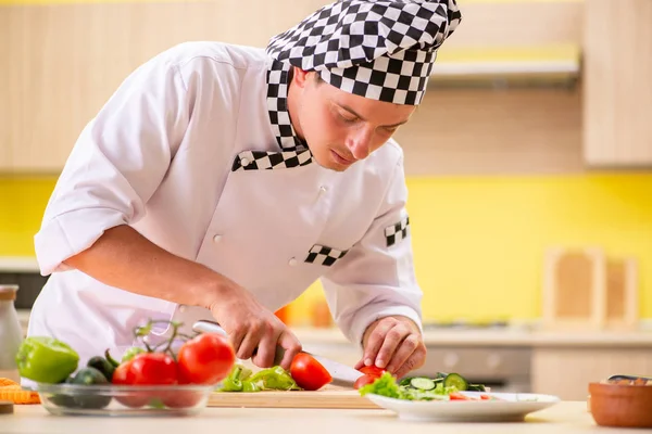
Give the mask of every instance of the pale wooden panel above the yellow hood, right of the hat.
M 463 21 L 444 50 L 459 46 L 579 44 L 584 3 L 568 0 L 460 1 Z

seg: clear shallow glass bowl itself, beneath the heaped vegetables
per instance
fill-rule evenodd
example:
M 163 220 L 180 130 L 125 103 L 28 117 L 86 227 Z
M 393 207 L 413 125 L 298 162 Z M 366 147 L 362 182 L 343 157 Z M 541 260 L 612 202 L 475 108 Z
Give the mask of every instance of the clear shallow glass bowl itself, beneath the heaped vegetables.
M 218 385 L 85 385 L 37 383 L 42 406 L 58 416 L 192 416 Z

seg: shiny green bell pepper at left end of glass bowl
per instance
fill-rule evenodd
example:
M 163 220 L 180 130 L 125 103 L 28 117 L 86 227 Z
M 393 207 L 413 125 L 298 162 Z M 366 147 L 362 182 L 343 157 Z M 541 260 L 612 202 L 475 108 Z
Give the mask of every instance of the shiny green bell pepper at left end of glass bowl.
M 21 376 L 38 383 L 61 383 L 79 363 L 79 355 L 70 345 L 49 336 L 25 339 L 15 359 Z

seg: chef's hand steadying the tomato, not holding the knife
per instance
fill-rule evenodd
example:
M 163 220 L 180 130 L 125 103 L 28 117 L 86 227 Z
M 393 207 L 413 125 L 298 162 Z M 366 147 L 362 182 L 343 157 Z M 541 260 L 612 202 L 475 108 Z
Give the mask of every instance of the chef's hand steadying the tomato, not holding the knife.
M 365 331 L 362 342 L 364 355 L 355 369 L 375 365 L 400 379 L 426 361 L 422 333 L 406 317 L 376 320 Z

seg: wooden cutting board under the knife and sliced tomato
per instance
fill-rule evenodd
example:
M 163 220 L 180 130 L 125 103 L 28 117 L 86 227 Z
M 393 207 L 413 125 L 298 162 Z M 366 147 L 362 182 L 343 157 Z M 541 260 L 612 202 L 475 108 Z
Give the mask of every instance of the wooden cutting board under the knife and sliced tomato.
M 209 407 L 379 409 L 358 391 L 214 392 Z

